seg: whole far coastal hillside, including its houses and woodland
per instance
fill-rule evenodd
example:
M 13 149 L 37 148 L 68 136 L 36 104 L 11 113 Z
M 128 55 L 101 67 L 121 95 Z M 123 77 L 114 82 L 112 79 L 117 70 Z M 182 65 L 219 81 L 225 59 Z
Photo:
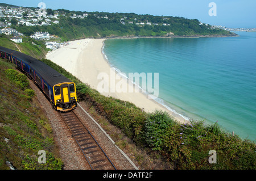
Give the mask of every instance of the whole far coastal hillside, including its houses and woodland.
M 85 37 L 133 36 L 234 36 L 235 33 L 202 23 L 197 19 L 174 16 L 138 15 L 47 9 L 0 4 L 3 15 L 11 16 L 9 26 L 31 36 L 34 32 L 49 32 L 62 41 Z M 14 11 L 14 10 L 15 11 Z M 15 14 L 18 9 L 19 14 Z M 19 10 L 21 12 L 19 12 Z M 22 15 L 20 15 L 22 14 Z M 1 18 L 2 22 L 9 18 Z

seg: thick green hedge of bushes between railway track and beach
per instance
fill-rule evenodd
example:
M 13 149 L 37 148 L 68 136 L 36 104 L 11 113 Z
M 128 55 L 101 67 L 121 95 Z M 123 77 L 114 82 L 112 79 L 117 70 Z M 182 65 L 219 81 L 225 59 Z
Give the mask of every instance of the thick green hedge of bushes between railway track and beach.
M 101 95 L 53 62 L 42 61 L 76 83 L 79 100 L 89 102 L 141 148 L 161 154 L 171 169 L 256 169 L 255 143 L 226 133 L 217 122 L 186 125 L 167 112 L 143 112 L 132 103 Z M 208 161 L 210 150 L 217 152 L 216 164 Z

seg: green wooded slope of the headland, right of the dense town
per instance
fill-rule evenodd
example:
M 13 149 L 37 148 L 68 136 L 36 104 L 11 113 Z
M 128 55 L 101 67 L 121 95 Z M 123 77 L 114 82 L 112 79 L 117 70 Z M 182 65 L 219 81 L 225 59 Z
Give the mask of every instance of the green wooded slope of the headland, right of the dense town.
M 30 36 L 37 31 L 47 31 L 57 35 L 61 41 L 85 37 L 127 37 L 127 36 L 229 36 L 234 33 L 200 24 L 197 19 L 173 16 L 137 15 L 134 13 L 81 12 L 69 10 L 51 10 L 60 14 L 58 24 L 49 26 L 13 25 L 17 31 Z M 76 18 L 71 18 L 76 14 Z M 86 17 L 78 18 L 88 14 Z M 49 18 L 56 20 L 55 18 Z M 148 23 L 148 24 L 147 24 Z

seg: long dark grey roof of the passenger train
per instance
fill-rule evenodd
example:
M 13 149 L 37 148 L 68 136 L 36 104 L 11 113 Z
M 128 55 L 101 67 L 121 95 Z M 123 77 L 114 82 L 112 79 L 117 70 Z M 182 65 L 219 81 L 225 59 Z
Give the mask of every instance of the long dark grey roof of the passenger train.
M 17 52 L 15 50 L 1 47 L 0 50 L 9 54 L 12 54 L 14 57 L 19 58 L 19 60 L 31 66 L 32 69 L 36 71 L 46 81 L 49 86 L 54 86 L 58 83 L 71 82 L 70 79 L 60 74 L 58 71 L 52 69 L 50 66 L 44 64 L 44 62 L 37 60 L 27 54 Z

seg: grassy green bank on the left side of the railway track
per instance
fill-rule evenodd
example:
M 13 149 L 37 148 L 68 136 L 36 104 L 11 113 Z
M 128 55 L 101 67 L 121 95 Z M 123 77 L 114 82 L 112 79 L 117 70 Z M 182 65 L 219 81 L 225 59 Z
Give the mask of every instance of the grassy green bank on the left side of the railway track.
M 61 169 L 51 125 L 29 88 L 26 75 L 0 60 L 0 169 Z M 39 150 L 46 151 L 46 163 L 38 163 Z

